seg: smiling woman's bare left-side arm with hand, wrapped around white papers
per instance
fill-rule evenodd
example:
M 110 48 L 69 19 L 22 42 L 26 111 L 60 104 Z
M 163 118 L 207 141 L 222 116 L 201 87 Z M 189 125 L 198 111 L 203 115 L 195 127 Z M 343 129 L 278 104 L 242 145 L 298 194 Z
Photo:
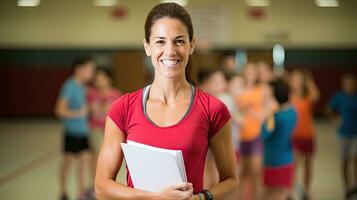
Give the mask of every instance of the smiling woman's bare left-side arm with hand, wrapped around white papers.
M 183 183 L 152 193 L 127 187 L 115 181 L 123 161 L 120 143 L 124 133 L 107 117 L 103 145 L 97 162 L 95 191 L 97 199 L 120 200 L 187 200 L 192 197 L 192 184 Z

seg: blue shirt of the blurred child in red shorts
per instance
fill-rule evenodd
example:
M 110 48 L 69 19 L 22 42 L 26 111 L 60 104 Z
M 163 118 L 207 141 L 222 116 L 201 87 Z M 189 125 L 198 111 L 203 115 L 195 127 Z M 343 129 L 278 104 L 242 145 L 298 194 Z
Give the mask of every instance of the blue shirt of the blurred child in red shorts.
M 291 137 L 296 125 L 297 113 L 293 106 L 274 114 L 274 128 L 269 131 L 263 124 L 264 166 L 279 167 L 293 162 Z

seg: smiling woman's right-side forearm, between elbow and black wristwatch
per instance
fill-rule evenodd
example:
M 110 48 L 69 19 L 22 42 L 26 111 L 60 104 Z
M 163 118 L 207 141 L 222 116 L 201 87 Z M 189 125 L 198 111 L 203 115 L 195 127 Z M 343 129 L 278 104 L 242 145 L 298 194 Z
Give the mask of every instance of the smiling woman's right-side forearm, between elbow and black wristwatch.
M 218 183 L 211 190 L 214 199 L 226 199 L 238 187 L 238 182 L 238 177 L 233 176 Z

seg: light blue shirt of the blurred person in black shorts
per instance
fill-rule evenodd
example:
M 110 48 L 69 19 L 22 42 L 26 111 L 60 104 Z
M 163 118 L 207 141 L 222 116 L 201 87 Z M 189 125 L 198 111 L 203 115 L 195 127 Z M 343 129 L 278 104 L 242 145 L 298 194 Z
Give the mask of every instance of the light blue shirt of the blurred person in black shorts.
M 73 78 L 65 81 L 60 96 L 68 101 L 70 110 L 79 110 L 86 104 L 86 88 L 75 82 Z M 86 137 L 89 132 L 87 116 L 67 118 L 63 120 L 66 134 L 74 137 Z

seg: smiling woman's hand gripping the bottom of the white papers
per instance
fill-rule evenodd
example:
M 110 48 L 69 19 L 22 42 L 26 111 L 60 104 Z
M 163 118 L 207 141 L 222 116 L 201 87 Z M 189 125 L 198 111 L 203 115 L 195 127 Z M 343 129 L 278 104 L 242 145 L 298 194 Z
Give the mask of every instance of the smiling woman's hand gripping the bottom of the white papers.
M 192 183 L 181 183 L 167 187 L 158 192 L 161 200 L 192 200 L 193 186 Z

